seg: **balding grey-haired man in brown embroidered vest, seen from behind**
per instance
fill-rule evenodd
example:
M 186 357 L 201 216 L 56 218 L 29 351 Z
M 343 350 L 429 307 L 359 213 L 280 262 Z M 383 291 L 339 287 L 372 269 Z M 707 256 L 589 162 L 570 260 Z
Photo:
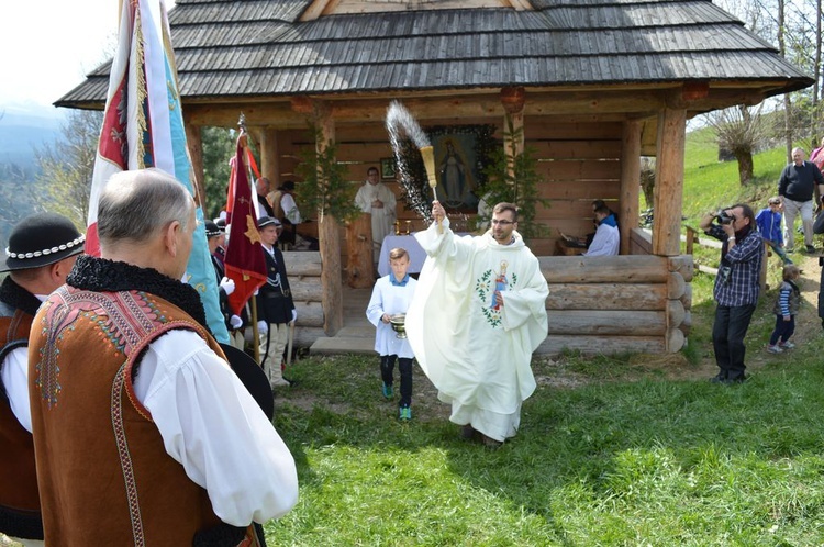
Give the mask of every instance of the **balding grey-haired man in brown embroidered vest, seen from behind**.
M 298 499 L 294 460 L 180 281 L 194 202 L 157 169 L 100 194 L 82 256 L 32 323 L 46 545 L 263 545 Z

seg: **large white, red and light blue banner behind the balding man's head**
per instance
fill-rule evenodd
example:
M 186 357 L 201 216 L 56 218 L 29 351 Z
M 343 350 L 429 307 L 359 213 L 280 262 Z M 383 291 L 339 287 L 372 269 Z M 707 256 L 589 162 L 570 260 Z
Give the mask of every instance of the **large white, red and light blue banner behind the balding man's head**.
M 123 0 L 89 196 L 87 253 L 100 256 L 98 200 L 109 178 L 119 171 L 147 167 L 172 175 L 196 196 L 165 2 Z M 201 203 L 196 216 L 198 226 L 183 281 L 200 294 L 214 337 L 229 343 Z

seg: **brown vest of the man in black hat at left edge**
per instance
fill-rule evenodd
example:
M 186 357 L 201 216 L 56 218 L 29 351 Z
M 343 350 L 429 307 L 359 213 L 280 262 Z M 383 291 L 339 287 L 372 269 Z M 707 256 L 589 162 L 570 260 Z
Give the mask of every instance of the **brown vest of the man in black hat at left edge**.
M 16 347 L 29 345 L 34 317 L 0 303 L 0 366 Z M 5 391 L 0 397 L 0 532 L 43 539 L 32 435 L 20 425 Z

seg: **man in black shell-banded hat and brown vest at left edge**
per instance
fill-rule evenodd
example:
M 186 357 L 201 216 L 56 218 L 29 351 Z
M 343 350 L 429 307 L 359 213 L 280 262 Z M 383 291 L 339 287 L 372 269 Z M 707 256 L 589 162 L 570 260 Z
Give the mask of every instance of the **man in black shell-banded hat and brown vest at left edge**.
M 23 219 L 0 258 L 0 532 L 26 546 L 43 545 L 32 415 L 29 331 L 37 308 L 66 281 L 85 237 L 58 214 Z

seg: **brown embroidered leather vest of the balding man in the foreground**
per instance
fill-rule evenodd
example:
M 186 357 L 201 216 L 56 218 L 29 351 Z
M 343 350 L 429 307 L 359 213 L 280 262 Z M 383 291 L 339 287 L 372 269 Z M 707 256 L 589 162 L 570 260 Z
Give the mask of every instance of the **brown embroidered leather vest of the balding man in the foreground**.
M 223 356 L 191 316 L 146 292 L 64 286 L 40 309 L 30 392 L 49 547 L 257 545 L 252 527 L 220 522 L 135 397 L 142 351 L 175 328 Z

